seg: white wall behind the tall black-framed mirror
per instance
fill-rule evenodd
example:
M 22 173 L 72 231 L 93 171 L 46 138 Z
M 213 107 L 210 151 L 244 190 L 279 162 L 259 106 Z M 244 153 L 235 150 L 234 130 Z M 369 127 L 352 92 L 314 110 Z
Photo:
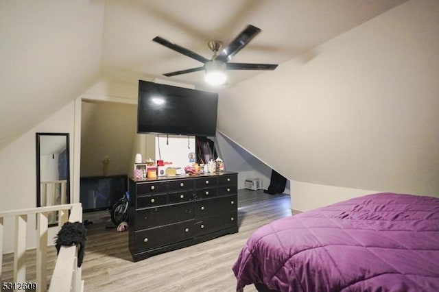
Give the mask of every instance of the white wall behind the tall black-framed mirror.
M 75 170 L 73 169 L 73 131 L 75 101 L 51 115 L 42 123 L 26 132 L 0 151 L 0 210 L 16 210 L 36 207 L 36 132 L 70 133 L 70 173 L 73 202 L 79 202 L 79 190 L 74 188 Z M 79 178 L 78 178 L 79 180 Z M 27 246 L 36 246 L 35 218 L 27 221 Z M 49 243 L 58 230 L 50 228 Z M 3 252 L 14 249 L 14 219 L 5 219 L 3 234 Z

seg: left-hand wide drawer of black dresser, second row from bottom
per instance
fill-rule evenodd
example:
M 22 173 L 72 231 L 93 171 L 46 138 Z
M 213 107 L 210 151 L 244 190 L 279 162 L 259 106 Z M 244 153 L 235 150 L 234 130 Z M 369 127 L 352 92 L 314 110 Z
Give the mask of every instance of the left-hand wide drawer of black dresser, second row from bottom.
M 193 202 L 146 208 L 136 211 L 136 230 L 191 220 Z

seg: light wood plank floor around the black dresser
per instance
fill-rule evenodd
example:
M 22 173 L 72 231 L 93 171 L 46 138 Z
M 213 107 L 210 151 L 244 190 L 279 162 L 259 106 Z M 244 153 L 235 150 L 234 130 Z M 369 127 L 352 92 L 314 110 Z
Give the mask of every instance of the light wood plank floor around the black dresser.
M 87 230 L 82 264 L 84 289 L 90 292 L 236 291 L 231 268 L 248 236 L 265 223 L 290 215 L 289 195 L 239 190 L 238 233 L 134 263 L 128 251 L 128 232 L 106 228 L 111 226 L 109 212 L 84 213 L 84 220 L 93 221 Z M 55 247 L 49 250 L 56 252 Z M 29 270 L 29 273 L 32 276 L 33 272 Z M 248 286 L 244 291 L 257 290 Z

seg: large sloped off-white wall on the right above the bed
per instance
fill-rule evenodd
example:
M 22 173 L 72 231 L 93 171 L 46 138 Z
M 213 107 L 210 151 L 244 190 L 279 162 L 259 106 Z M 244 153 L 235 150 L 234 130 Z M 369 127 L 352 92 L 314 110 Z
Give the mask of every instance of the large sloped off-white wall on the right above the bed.
M 438 1 L 404 3 L 224 90 L 218 130 L 294 182 L 439 196 L 438 32 Z

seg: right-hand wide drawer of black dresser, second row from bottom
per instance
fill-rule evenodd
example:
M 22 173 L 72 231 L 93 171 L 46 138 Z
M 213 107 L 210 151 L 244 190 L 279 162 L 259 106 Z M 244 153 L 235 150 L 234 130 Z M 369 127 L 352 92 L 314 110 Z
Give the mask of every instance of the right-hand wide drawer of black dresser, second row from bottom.
M 195 201 L 195 219 L 237 210 L 237 195 Z

